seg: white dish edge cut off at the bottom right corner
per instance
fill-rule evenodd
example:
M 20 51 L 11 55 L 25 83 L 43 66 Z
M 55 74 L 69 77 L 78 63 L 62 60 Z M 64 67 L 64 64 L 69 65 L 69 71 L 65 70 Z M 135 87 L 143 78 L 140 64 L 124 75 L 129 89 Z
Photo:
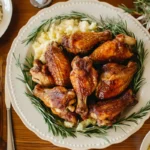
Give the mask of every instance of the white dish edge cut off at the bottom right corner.
M 150 146 L 150 132 L 148 132 L 141 144 L 140 150 L 148 150 Z

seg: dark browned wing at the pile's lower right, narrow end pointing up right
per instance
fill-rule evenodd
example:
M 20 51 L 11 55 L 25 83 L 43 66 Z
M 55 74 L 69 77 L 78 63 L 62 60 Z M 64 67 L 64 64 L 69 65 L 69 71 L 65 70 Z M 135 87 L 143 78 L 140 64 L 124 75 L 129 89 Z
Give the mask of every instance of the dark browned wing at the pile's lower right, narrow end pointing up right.
M 120 113 L 129 105 L 136 103 L 132 90 L 123 96 L 108 101 L 100 101 L 90 108 L 90 117 L 97 120 L 99 126 L 112 125 Z

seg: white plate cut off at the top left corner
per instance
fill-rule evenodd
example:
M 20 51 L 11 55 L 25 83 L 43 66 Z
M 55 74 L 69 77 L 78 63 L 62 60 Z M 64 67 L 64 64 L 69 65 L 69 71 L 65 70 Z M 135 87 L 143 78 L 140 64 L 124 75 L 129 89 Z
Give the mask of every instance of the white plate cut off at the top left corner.
M 0 37 L 7 30 L 12 17 L 12 2 L 11 0 L 0 0 L 2 2 L 3 18 L 0 22 Z

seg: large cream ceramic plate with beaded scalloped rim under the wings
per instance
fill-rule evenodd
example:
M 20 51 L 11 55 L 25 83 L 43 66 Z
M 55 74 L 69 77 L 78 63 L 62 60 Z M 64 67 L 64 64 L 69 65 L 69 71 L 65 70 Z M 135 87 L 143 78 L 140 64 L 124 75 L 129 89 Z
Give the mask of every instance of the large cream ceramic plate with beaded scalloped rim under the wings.
M 10 95 L 12 97 L 12 105 L 27 128 L 37 134 L 41 139 L 50 141 L 57 146 L 76 150 L 105 148 L 110 146 L 111 144 L 124 141 L 130 135 L 139 130 L 145 120 L 149 118 L 150 113 L 148 113 L 143 119 L 138 120 L 138 124 L 130 123 L 130 127 L 124 126 L 123 128 L 126 133 L 120 129 L 118 129 L 117 132 L 111 129 L 107 137 L 110 141 L 109 143 L 101 138 L 88 138 L 81 135 L 77 135 L 76 139 L 62 139 L 61 137 L 54 137 L 51 133 L 48 132 L 47 124 L 45 124 L 42 115 L 40 115 L 40 113 L 31 104 L 30 100 L 24 95 L 24 92 L 26 91 L 25 85 L 16 79 L 16 76 L 20 74 L 20 71 L 15 66 L 15 60 L 12 54 L 15 53 L 16 56 L 20 54 L 21 61 L 24 62 L 29 49 L 31 51 L 31 46 L 25 46 L 24 44 L 22 44 L 22 40 L 24 40 L 24 38 L 27 37 L 31 30 L 39 25 L 43 19 L 48 19 L 62 13 L 70 13 L 72 10 L 91 14 L 96 18 L 99 18 L 100 15 L 102 15 L 103 17 L 115 17 L 119 19 L 120 16 L 127 22 L 128 29 L 135 33 L 137 39 L 142 39 L 144 41 L 145 48 L 150 48 L 149 33 L 142 27 L 142 25 L 138 21 L 136 21 L 129 14 L 121 11 L 119 8 L 113 7 L 107 3 L 98 2 L 97 0 L 70 0 L 68 2 L 57 3 L 50 8 L 43 9 L 37 15 L 32 17 L 29 22 L 20 30 L 18 36 L 12 44 L 10 55 L 7 60 L 7 83 Z M 150 55 L 148 55 L 147 60 L 150 60 Z M 139 103 L 126 115 L 137 112 L 141 107 L 144 107 L 150 99 L 149 66 L 150 61 L 146 61 L 145 72 L 143 75 L 143 77 L 146 78 L 146 84 L 138 93 Z

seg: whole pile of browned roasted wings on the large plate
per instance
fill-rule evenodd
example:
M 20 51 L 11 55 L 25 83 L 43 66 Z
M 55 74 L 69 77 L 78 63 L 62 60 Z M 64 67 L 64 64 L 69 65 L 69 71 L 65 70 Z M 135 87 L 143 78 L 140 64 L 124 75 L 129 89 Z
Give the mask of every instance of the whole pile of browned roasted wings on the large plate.
M 30 70 L 37 83 L 34 95 L 51 111 L 71 122 L 87 118 L 112 125 L 121 112 L 136 103 L 130 83 L 137 71 L 132 46 L 136 40 L 110 31 L 76 32 L 52 42 L 46 64 L 34 60 Z

